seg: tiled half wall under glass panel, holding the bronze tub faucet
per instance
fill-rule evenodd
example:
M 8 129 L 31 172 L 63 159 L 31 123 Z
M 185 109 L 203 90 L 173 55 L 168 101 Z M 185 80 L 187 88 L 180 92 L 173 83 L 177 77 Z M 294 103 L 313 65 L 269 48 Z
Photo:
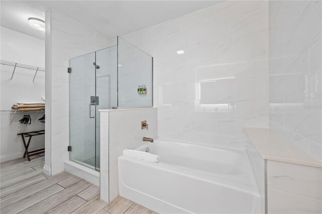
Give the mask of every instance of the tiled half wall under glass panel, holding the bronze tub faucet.
M 141 129 L 143 120 L 148 130 Z M 119 195 L 117 163 L 123 150 L 145 144 L 143 137 L 157 136 L 157 108 L 101 111 L 101 199 L 109 202 Z

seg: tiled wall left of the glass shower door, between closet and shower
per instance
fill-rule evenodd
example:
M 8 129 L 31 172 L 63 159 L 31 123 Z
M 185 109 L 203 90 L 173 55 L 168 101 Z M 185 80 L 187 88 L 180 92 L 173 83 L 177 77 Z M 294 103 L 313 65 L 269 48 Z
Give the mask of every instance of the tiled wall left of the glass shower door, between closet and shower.
M 69 59 L 108 47 L 110 40 L 54 10 L 46 11 L 46 25 L 46 83 L 51 84 L 46 85 L 46 129 L 51 133 L 46 138 L 45 168 L 54 175 L 69 159 Z

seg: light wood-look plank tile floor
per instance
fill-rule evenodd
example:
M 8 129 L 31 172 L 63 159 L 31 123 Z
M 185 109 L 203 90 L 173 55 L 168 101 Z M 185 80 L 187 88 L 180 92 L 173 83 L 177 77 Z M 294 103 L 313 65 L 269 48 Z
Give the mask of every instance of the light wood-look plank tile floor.
M 107 204 L 100 199 L 98 186 L 67 172 L 47 177 L 44 163 L 44 156 L 34 156 L 31 161 L 19 158 L 0 164 L 1 214 L 155 214 L 122 197 Z

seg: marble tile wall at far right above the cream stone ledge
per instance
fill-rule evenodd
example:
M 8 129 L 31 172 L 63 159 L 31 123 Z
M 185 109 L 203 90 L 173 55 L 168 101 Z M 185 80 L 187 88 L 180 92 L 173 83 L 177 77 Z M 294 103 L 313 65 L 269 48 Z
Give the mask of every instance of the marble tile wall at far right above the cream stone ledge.
M 269 1 L 269 126 L 322 160 L 321 1 Z

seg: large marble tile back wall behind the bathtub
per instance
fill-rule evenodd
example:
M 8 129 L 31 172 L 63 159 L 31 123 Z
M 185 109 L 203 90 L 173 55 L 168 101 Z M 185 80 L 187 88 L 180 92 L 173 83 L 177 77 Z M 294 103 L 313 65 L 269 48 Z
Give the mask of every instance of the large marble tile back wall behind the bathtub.
M 244 148 L 244 126 L 268 126 L 268 2 L 226 1 L 121 37 L 153 56 L 159 137 Z

